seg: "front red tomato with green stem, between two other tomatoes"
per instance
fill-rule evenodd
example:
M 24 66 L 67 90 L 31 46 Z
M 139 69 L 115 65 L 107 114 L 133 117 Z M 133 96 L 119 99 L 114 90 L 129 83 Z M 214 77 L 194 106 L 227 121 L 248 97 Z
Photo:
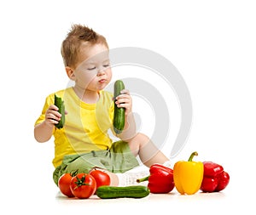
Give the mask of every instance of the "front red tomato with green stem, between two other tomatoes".
M 79 199 L 88 199 L 96 191 L 96 180 L 87 173 L 79 173 L 71 179 L 70 190 Z

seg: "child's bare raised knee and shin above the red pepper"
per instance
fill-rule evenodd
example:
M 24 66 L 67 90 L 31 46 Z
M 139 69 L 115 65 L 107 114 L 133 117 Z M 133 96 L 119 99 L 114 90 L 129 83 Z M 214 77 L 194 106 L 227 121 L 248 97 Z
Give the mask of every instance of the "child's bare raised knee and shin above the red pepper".
M 150 167 L 154 163 L 163 164 L 169 159 L 154 145 L 154 143 L 143 133 L 128 141 L 131 152 L 134 156 L 139 156 L 143 164 Z

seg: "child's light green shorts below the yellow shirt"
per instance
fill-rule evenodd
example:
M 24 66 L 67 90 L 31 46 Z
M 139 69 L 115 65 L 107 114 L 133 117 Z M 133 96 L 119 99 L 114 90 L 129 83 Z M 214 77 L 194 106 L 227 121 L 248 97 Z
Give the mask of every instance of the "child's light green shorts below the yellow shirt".
M 64 156 L 61 166 L 55 168 L 53 179 L 58 185 L 58 180 L 64 173 L 89 173 L 93 167 L 101 167 L 112 173 L 125 173 L 138 165 L 129 145 L 120 140 L 114 142 L 109 150 L 92 150 L 81 155 Z

